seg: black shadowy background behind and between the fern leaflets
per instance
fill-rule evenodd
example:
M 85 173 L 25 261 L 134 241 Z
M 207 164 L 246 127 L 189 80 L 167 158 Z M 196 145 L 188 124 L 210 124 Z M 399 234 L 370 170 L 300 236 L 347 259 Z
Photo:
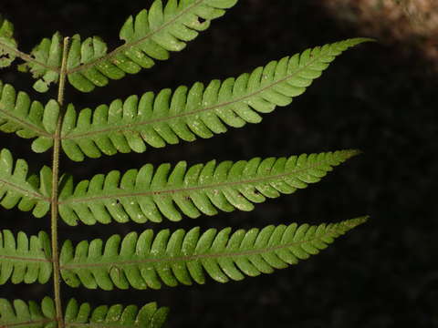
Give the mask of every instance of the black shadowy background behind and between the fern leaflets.
M 55 30 L 65 36 L 99 35 L 117 46 L 125 18 L 150 4 L 144 0 L 76 0 L 64 5 L 55 0 L 1 0 L 0 12 L 14 22 L 20 48 L 30 51 L 36 41 Z M 316 0 L 243 0 L 185 51 L 172 54 L 171 60 L 138 76 L 111 82 L 90 95 L 69 89 L 67 97 L 79 108 L 92 107 L 147 90 L 235 77 L 310 46 L 359 36 L 355 28 L 328 15 Z M 437 201 L 433 193 L 438 181 L 438 73 L 415 52 L 401 56 L 405 53 L 401 49 L 407 46 L 366 44 L 350 50 L 291 106 L 266 115 L 261 124 L 144 154 L 79 164 L 63 159 L 62 163 L 63 169 L 83 179 L 146 162 L 186 159 L 193 164 L 358 148 L 363 155 L 335 169 L 317 185 L 268 200 L 253 212 L 222 213 L 162 227 L 316 224 L 370 214 L 366 225 L 298 266 L 244 282 L 222 285 L 210 281 L 158 292 L 99 292 L 64 286 L 65 300 L 74 296 L 79 302 L 96 305 L 157 301 L 172 309 L 168 327 L 438 326 Z M 32 92 L 31 78 L 25 74 L 6 69 L 1 79 Z M 36 98 L 45 100 L 47 96 Z M 13 148 L 16 156 L 29 158 L 27 140 L 4 135 L 1 145 Z M 32 159 L 32 169 L 43 162 L 50 162 L 49 153 Z M 47 220 L 36 220 L 27 213 L 0 212 L 7 229 L 29 234 L 49 229 Z M 63 239 L 80 241 L 143 229 L 138 224 L 87 229 L 62 224 L 60 232 Z M 0 296 L 39 300 L 50 292 L 49 285 L 7 284 Z

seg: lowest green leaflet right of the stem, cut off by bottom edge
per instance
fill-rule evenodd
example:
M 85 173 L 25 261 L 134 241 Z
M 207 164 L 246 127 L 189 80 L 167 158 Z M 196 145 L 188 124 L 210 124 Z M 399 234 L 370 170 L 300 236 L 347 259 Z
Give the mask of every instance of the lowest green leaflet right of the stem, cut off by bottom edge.
M 135 305 L 101 305 L 91 310 L 89 303 L 78 304 L 75 299 L 68 302 L 66 327 L 100 328 L 160 328 L 166 321 L 168 308 L 158 308 L 156 302 L 150 302 L 138 309 Z

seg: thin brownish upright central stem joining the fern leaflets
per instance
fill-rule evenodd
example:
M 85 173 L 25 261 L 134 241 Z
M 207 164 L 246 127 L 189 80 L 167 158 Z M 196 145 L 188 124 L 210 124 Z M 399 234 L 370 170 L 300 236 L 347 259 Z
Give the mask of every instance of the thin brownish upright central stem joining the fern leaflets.
M 57 102 L 60 108 L 64 105 L 64 89 L 66 87 L 67 77 L 67 54 L 68 54 L 69 37 L 64 38 L 64 51 L 62 57 L 61 72 L 59 77 L 59 87 L 57 91 Z M 59 153 L 61 145 L 61 125 L 63 113 L 57 119 L 57 130 L 53 137 L 53 162 L 52 162 L 52 198 L 50 207 L 51 217 L 51 234 L 52 234 L 52 262 L 53 262 L 53 288 L 55 293 L 55 306 L 57 309 L 57 328 L 64 328 L 64 317 L 62 315 L 61 304 L 61 278 L 59 268 L 59 251 L 57 241 L 57 217 L 58 217 L 58 183 L 59 183 Z

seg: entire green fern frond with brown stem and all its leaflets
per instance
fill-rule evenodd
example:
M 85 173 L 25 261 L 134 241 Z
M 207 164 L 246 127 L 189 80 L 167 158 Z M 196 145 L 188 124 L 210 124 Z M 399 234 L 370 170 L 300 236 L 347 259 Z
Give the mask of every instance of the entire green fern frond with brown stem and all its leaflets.
M 255 203 L 307 188 L 358 153 L 348 149 L 195 165 L 181 161 L 156 168 L 145 164 L 82 181 L 59 172 L 61 152 L 75 161 L 140 153 L 258 123 L 262 114 L 285 107 L 302 94 L 336 56 L 368 41 L 354 38 L 317 46 L 235 78 L 146 92 L 97 108 L 77 108 L 64 99 L 67 84 L 89 92 L 167 59 L 236 3 L 156 0 L 149 10 L 128 18 L 120 29 L 124 43 L 112 51 L 97 36 L 83 40 L 56 33 L 27 55 L 18 50 L 12 24 L 0 17 L 0 67 L 19 58 L 24 61 L 20 71 L 36 78 L 36 91 L 57 85 L 57 99 L 42 104 L 0 81 L 0 130 L 32 138 L 31 148 L 37 153 L 53 152 L 51 166 L 36 173 L 29 173 L 26 160 L 15 159 L 11 150 L 0 152 L 0 204 L 51 221 L 49 234 L 0 231 L 0 283 L 53 279 L 54 286 L 52 298 L 40 302 L 0 299 L 2 327 L 160 327 L 167 309 L 154 302 L 141 308 L 120 304 L 91 308 L 89 303 L 69 300 L 63 308 L 61 283 L 113 290 L 204 283 L 207 277 L 239 281 L 308 259 L 366 220 L 269 225 L 248 231 L 146 230 L 76 245 L 59 241 L 59 219 L 70 226 L 130 220 L 159 223 L 253 210 Z

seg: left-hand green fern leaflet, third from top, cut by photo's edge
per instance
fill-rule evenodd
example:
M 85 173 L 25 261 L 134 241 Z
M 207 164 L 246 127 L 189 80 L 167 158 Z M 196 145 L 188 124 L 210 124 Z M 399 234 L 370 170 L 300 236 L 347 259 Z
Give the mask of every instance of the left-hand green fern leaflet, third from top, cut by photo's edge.
M 7 149 L 0 151 L 0 205 L 5 209 L 15 206 L 19 210 L 32 210 L 36 218 L 41 218 L 50 209 L 52 170 L 44 167 L 37 175 L 27 174 L 24 159 L 14 161 Z

